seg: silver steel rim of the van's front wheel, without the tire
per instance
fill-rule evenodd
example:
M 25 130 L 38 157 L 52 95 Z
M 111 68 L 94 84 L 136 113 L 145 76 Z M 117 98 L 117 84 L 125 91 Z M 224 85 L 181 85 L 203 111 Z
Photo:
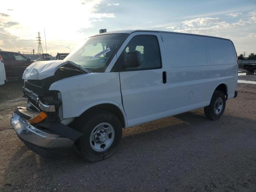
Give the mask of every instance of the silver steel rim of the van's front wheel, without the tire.
M 93 150 L 102 152 L 111 146 L 114 137 L 113 126 L 109 123 L 100 123 L 91 132 L 90 145 Z

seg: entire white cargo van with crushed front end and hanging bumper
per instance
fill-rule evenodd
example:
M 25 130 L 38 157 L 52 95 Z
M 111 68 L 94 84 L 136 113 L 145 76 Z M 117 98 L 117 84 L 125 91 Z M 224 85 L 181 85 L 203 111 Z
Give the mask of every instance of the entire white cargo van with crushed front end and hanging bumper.
M 110 156 L 122 128 L 204 107 L 218 120 L 236 97 L 238 64 L 228 39 L 162 31 L 92 36 L 64 60 L 24 72 L 28 106 L 11 122 L 30 147 L 73 144 L 89 161 Z

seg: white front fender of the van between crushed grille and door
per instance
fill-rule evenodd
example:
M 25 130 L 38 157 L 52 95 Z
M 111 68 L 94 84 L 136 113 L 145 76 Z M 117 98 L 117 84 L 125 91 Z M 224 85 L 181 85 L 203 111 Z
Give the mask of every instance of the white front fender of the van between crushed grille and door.
M 119 73 L 90 73 L 72 76 L 54 82 L 49 90 L 58 90 L 62 97 L 63 118 L 78 117 L 99 104 L 117 106 L 124 119 Z M 125 120 L 127 126 L 127 122 Z

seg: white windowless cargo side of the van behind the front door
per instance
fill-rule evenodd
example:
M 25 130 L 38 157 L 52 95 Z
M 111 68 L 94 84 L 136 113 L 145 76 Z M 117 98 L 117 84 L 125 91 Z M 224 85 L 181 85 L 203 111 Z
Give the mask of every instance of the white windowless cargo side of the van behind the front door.
M 228 98 L 234 96 L 238 68 L 235 64 L 235 56 L 232 56 L 234 48 L 230 46 L 231 41 L 219 38 L 211 38 L 213 40 L 208 41 L 210 37 L 190 34 L 163 32 L 161 35 L 169 52 L 166 84 L 170 109 L 196 106 L 199 103 L 208 106 L 215 88 L 222 83 L 228 87 Z M 214 40 L 225 42 L 222 44 L 218 42 L 219 44 L 215 43 L 212 46 Z M 209 55 L 209 46 L 214 54 Z M 218 50 L 218 46 L 224 46 L 228 53 L 227 57 L 224 58 L 223 54 L 219 54 L 223 50 Z M 210 63 L 210 56 L 215 55 L 222 57 L 218 60 L 218 64 L 214 63 L 215 60 L 212 60 L 214 64 Z M 232 60 L 232 62 L 220 64 L 220 60 Z

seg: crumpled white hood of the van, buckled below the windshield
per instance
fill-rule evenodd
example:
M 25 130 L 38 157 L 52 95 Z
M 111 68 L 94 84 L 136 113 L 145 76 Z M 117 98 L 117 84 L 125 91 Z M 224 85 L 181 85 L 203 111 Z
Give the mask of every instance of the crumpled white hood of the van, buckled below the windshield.
M 58 68 L 68 63 L 78 68 L 81 68 L 79 65 L 71 61 L 64 61 L 64 60 L 38 61 L 38 62 L 32 63 L 30 66 L 26 68 L 26 70 L 23 73 L 22 79 L 41 80 L 41 79 L 53 76 Z M 81 69 L 84 70 L 85 72 L 88 72 L 83 68 Z

